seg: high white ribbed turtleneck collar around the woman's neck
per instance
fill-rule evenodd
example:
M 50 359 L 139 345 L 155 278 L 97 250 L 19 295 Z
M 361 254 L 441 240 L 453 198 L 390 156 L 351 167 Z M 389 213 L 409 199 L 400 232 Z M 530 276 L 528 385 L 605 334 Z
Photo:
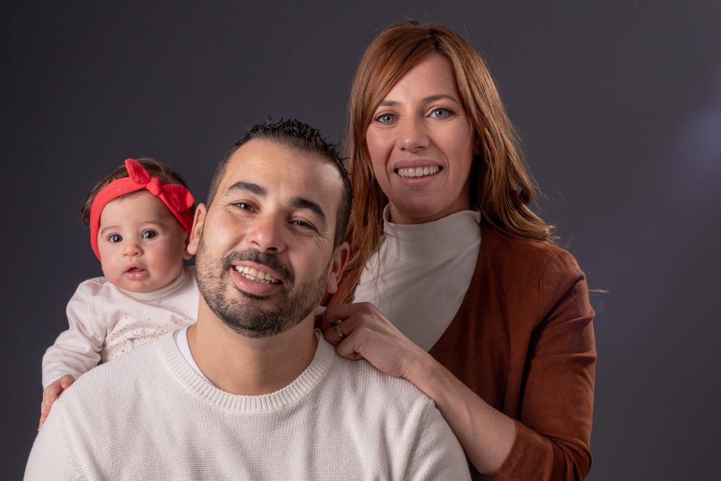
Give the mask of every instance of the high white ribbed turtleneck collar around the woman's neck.
M 383 211 L 384 246 L 402 262 L 433 262 L 464 252 L 481 238 L 481 213 L 459 211 L 423 224 L 394 224 L 388 206 Z

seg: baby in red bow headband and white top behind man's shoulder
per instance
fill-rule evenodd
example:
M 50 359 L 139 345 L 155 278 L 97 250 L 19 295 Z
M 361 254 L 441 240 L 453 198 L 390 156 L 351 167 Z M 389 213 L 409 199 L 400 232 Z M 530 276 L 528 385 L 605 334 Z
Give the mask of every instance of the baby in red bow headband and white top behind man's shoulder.
M 195 268 L 185 268 L 195 211 L 179 175 L 154 159 L 127 159 L 83 206 L 105 277 L 84 281 L 68 302 L 70 328 L 43 356 L 40 425 L 81 374 L 195 322 Z

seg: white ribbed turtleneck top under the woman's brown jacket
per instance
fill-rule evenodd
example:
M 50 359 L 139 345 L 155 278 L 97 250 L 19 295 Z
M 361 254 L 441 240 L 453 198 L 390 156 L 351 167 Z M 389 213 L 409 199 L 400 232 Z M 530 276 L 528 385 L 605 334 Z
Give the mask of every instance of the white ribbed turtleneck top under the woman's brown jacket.
M 481 246 L 481 214 L 460 211 L 425 224 L 393 224 L 384 210 L 384 236 L 355 289 L 425 350 L 441 338 L 471 283 Z

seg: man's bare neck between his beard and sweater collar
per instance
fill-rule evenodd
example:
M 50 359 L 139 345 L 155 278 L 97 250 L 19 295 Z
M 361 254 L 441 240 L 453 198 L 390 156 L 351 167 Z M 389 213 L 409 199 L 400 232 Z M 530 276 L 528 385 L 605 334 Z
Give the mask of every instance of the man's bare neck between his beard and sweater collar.
M 269 394 L 291 384 L 311 363 L 318 345 L 313 314 L 286 332 L 253 338 L 234 332 L 202 300 L 200 304 L 187 342 L 198 368 L 218 389 Z

